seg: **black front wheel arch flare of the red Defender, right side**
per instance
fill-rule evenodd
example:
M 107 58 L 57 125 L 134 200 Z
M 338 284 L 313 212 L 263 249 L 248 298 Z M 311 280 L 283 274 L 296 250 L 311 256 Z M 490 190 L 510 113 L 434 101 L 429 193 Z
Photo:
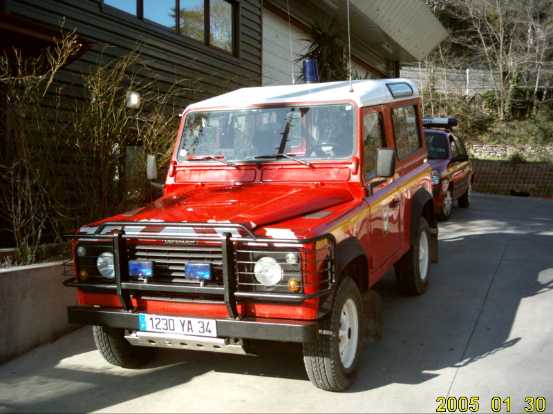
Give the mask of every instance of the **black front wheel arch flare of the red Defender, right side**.
M 364 259 L 367 266 L 366 268 L 368 269 L 368 255 L 366 250 L 355 237 L 348 237 L 336 245 L 336 282 L 332 291 L 319 300 L 319 314 L 317 317 L 321 317 L 330 312 L 332 309 L 332 300 L 334 299 L 335 290 L 340 282 L 341 275 L 344 273 L 344 269 L 348 264 L 357 259 L 357 257 L 362 257 Z M 361 292 L 368 288 L 368 274 L 365 276 L 366 279 L 361 279 L 360 277 L 363 277 L 363 275 L 359 275 L 355 280 Z

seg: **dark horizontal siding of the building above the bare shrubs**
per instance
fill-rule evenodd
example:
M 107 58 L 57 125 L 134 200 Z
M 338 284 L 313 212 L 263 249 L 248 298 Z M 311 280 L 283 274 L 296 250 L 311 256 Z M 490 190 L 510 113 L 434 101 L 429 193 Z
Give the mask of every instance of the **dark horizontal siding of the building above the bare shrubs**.
M 176 81 L 187 79 L 184 86 L 191 92 L 183 97 L 185 106 L 243 86 L 261 85 L 261 3 L 236 3 L 236 56 L 178 37 L 129 14 L 113 9 L 110 12 L 100 0 L 12 0 L 10 11 L 52 28 L 59 28 L 64 20 L 66 29 L 75 29 L 80 36 L 95 42 L 81 59 L 64 68 L 59 81 L 78 82 L 82 73 L 90 72 L 100 60 L 106 63 L 137 49 L 162 89 L 169 90 Z

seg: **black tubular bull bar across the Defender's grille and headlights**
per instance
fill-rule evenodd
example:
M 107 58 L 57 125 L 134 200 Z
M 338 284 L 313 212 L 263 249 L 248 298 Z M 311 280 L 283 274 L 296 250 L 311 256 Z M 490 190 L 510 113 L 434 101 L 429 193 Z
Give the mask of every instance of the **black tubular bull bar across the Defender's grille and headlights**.
M 159 230 L 174 228 L 174 233 L 165 233 L 160 235 Z M 149 229 L 149 230 L 147 230 Z M 209 235 L 197 235 L 196 233 L 178 233 L 177 230 L 187 231 L 194 229 L 207 229 L 213 230 Z M 126 233 L 126 230 L 129 233 Z M 156 231 L 153 231 L 156 230 Z M 240 231 L 238 231 L 240 230 Z M 258 237 L 250 228 L 247 228 L 243 224 L 232 223 L 177 223 L 177 222 L 148 222 L 147 226 L 142 222 L 124 222 L 124 221 L 106 221 L 98 226 L 93 233 L 82 234 L 73 233 L 68 234 L 66 237 L 74 239 L 97 241 L 102 239 L 104 241 L 111 240 L 113 246 L 113 268 L 115 277 L 112 284 L 81 284 L 75 281 L 75 276 L 67 279 L 64 282 L 65 286 L 73 286 L 77 288 L 95 290 L 95 293 L 109 293 L 118 296 L 121 308 L 127 313 L 133 311 L 133 304 L 131 296 L 136 293 L 144 294 L 158 294 L 158 295 L 191 295 L 191 296 L 213 296 L 218 301 L 224 303 L 227 308 L 229 319 L 237 319 L 244 321 L 241 315 L 238 314 L 237 303 L 239 301 L 244 302 L 281 302 L 283 304 L 301 304 L 303 301 L 309 299 L 315 299 L 324 295 L 331 294 L 335 290 L 336 274 L 337 274 L 337 260 L 336 260 L 336 240 L 330 233 L 320 235 L 317 237 L 311 237 L 310 239 L 271 239 Z M 147 282 L 142 283 L 135 280 L 131 280 L 129 277 L 129 241 L 162 241 L 174 240 L 178 242 L 211 242 L 214 244 L 220 244 L 220 255 L 222 264 L 222 282 L 216 286 L 209 285 L 196 285 L 196 284 L 180 284 L 171 282 Z M 236 259 L 237 246 L 263 246 L 263 248 L 277 248 L 282 245 L 285 246 L 307 246 L 316 245 L 318 242 L 325 242 L 328 249 L 325 266 L 322 266 L 321 270 L 316 270 L 315 273 L 321 273 L 319 282 L 317 282 L 317 289 L 314 293 L 273 293 L 273 292 L 252 292 L 244 291 L 240 288 L 240 280 L 238 277 L 238 266 Z M 194 245 L 196 246 L 196 245 Z M 321 248 L 319 248 L 320 250 Z M 269 250 L 268 250 L 269 251 Z M 316 251 L 312 251 L 312 255 L 316 256 Z M 313 259 L 310 262 L 311 266 L 317 266 L 315 260 L 318 262 L 324 262 L 321 259 Z M 185 259 L 182 259 L 183 264 Z M 246 263 L 246 262 L 244 262 Z M 304 262 L 304 263 L 307 263 Z M 307 266 L 305 264 L 304 266 Z M 308 279 L 308 270 L 302 270 L 303 279 Z M 76 274 L 76 273 L 75 273 Z M 243 286 L 247 283 L 242 283 Z M 308 285 L 307 282 L 304 287 L 313 287 L 315 285 Z M 265 319 L 263 319 L 265 320 Z M 88 324 L 87 322 L 76 322 L 79 324 Z M 108 325 L 112 326 L 112 325 Z M 124 326 L 121 326 L 124 327 Z M 253 334 L 251 334 L 253 335 Z M 254 339 L 254 337 L 251 337 Z M 259 338 L 261 339 L 261 338 Z M 272 338 L 271 338 L 272 339 Z M 278 340 L 286 340 L 281 339 Z M 304 342 L 297 341 L 297 342 Z

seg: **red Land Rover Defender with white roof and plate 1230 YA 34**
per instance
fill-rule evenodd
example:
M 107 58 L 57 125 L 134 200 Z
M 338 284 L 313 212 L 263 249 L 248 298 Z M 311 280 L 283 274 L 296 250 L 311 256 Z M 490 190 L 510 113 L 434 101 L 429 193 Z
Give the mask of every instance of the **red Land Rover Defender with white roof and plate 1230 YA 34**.
M 244 88 L 182 115 L 163 197 L 73 237 L 70 322 L 111 364 L 156 347 L 301 342 L 312 383 L 359 365 L 362 295 L 438 259 L 417 88 L 404 79 Z M 153 178 L 153 177 L 151 177 Z

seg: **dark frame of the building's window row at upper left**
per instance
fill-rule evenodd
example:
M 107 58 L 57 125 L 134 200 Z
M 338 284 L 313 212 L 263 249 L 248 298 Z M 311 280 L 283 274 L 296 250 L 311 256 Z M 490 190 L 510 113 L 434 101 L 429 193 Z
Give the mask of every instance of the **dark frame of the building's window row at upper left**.
M 186 34 L 180 33 L 180 19 L 176 19 L 175 21 L 175 29 L 169 28 L 168 26 L 164 26 L 160 23 L 156 23 L 156 21 L 149 20 L 144 17 L 144 2 L 143 0 L 135 0 L 136 1 L 136 14 L 132 14 L 129 12 L 126 12 L 125 10 L 122 10 L 120 8 L 117 8 L 115 6 L 111 6 L 106 3 L 106 0 L 102 0 L 100 3 L 100 9 L 102 12 L 105 12 L 107 14 L 111 14 L 112 16 L 118 17 L 118 18 L 124 18 L 127 20 L 134 20 L 134 21 L 140 21 L 140 23 L 144 24 L 144 26 L 147 26 L 149 28 L 156 28 L 158 30 L 162 30 L 166 34 L 169 34 L 171 37 L 176 37 L 177 39 L 184 40 L 184 41 L 191 41 L 194 42 L 196 45 L 202 45 L 208 48 L 209 50 L 217 50 L 218 52 L 223 53 L 224 55 L 227 55 L 229 57 L 239 57 L 239 50 L 240 50 L 240 43 L 239 43 L 239 26 L 240 26 L 240 3 L 236 0 L 222 0 L 225 1 L 225 3 L 229 3 L 231 6 L 231 21 L 232 21 L 232 51 L 225 50 L 223 48 L 219 48 L 218 46 L 212 45 L 211 42 L 211 17 L 210 17 L 210 6 L 212 0 L 203 0 L 204 1 L 204 35 L 203 40 L 194 39 L 194 37 L 189 37 Z M 180 6 L 180 0 L 174 0 L 176 8 L 179 8 Z

